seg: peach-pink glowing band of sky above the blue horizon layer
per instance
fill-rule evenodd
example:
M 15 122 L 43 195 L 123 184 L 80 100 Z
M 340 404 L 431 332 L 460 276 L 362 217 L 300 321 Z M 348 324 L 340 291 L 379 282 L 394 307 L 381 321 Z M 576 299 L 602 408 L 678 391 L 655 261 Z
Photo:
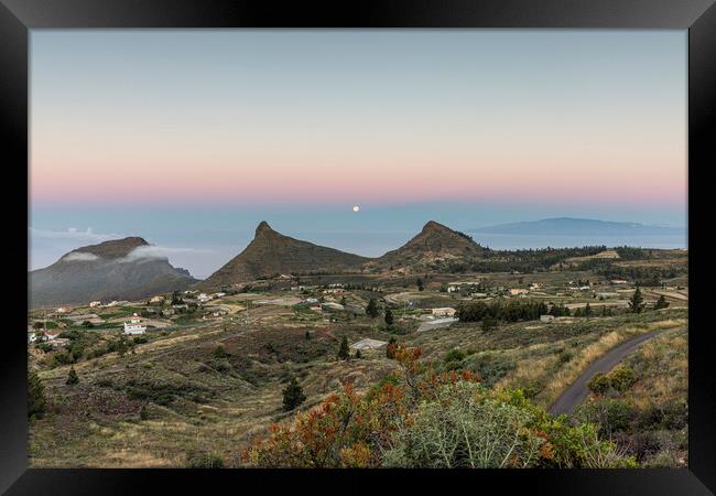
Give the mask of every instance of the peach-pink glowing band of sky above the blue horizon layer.
M 247 150 L 208 153 L 181 147 L 33 147 L 31 196 L 41 204 L 290 203 L 495 201 L 566 204 L 684 204 L 682 150 L 585 150 L 555 143 L 554 151 L 448 145 L 426 150 L 367 145 L 346 151 Z M 36 141 L 33 141 L 35 143 Z M 101 147 L 106 152 L 110 147 Z M 308 148 L 308 147 L 306 147 Z M 546 148 L 546 147 L 544 147 Z M 674 147 L 677 148 L 677 147 Z M 43 150 L 52 150 L 45 152 Z M 162 150 L 167 150 L 163 152 Z M 679 170 L 681 169 L 681 173 Z M 107 187 L 111 185 L 111 187 Z

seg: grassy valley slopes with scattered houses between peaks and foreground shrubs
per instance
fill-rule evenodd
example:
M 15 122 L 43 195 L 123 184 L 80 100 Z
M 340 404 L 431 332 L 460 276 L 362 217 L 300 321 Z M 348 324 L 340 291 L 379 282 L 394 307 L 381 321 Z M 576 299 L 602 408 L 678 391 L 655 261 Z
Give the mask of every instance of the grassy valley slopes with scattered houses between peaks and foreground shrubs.
M 532 313 L 488 325 L 465 310 L 480 305 Z M 271 423 L 346 381 L 367 391 L 394 374 L 397 346 L 420 348 L 440 369 L 473 370 L 486 387 L 520 388 L 546 409 L 616 343 L 685 333 L 687 306 L 686 276 L 646 285 L 555 270 L 275 274 L 33 309 L 30 363 L 53 407 L 33 423 L 31 465 L 187 466 L 187 453 L 204 453 L 240 466 L 237 453 Z M 304 398 L 295 410 L 285 408 L 290 380 Z

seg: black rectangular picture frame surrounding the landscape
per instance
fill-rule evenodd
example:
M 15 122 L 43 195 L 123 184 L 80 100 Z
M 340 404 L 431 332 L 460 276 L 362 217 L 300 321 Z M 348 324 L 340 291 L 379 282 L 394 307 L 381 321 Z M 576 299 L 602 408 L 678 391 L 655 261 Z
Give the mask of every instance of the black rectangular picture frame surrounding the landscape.
M 573 28 L 688 30 L 688 468 L 636 471 L 196 471 L 196 470 L 28 470 L 26 343 L 21 328 L 28 294 L 22 260 L 28 252 L 29 30 L 67 28 Z M 713 0 L 426 0 L 334 2 L 330 4 L 231 0 L 0 0 L 0 136 L 4 162 L 6 308 L 8 322 L 0 360 L 0 490 L 19 494 L 127 494 L 151 486 L 180 493 L 208 493 L 217 484 L 234 492 L 260 483 L 302 484 L 321 490 L 318 476 L 335 490 L 370 490 L 387 478 L 403 489 L 437 479 L 506 490 L 549 494 L 701 495 L 716 492 L 716 388 L 705 304 L 704 269 L 709 213 L 707 172 L 716 137 L 716 7 Z M 699 207 L 699 204 L 705 205 Z M 25 215 L 22 215 L 22 212 Z M 702 229 L 698 227 L 702 226 Z M 21 233 L 25 233 L 23 236 Z M 343 479 L 356 477 L 358 484 Z M 361 484 L 362 482 L 362 484 Z M 449 484 L 449 486 L 447 486 Z M 307 486 L 310 485 L 310 486 Z

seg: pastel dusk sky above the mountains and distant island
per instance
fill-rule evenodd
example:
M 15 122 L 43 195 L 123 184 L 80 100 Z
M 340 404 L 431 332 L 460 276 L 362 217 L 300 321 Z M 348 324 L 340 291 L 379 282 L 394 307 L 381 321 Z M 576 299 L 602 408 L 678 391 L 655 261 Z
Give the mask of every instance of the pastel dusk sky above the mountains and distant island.
M 264 219 L 366 256 L 428 219 L 685 226 L 686 41 L 33 30 L 30 267 L 138 235 L 206 277 Z

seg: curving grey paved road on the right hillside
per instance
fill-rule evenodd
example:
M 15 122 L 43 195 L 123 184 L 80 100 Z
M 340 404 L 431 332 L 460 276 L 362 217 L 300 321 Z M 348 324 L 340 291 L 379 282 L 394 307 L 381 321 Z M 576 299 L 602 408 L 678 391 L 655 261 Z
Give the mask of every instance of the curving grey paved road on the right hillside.
M 603 357 L 594 362 L 582 375 L 574 381 L 572 386 L 566 388 L 564 392 L 557 398 L 557 400 L 547 409 L 553 416 L 558 416 L 561 413 L 572 413 L 574 409 L 581 405 L 589 390 L 587 384 L 594 377 L 596 373 L 606 374 L 611 370 L 619 362 L 625 359 L 627 355 L 637 349 L 639 345 L 643 342 L 651 339 L 652 337 L 659 335 L 663 331 L 652 331 L 647 334 L 641 334 L 640 336 L 632 337 L 621 343 L 619 346 L 615 346 L 609 352 L 607 352 Z

